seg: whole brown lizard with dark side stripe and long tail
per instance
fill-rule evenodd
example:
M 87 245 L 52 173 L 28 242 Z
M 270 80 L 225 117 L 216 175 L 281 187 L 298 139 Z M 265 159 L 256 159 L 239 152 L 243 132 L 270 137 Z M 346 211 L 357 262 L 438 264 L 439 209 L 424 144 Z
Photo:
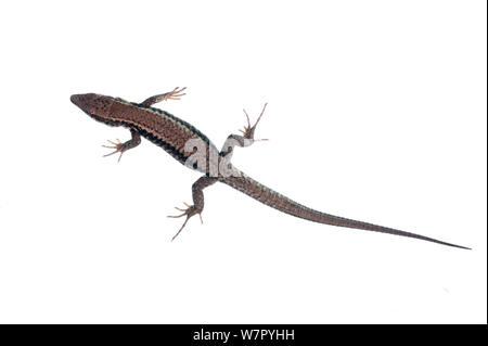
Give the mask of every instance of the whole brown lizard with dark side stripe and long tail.
M 202 212 L 204 208 L 203 190 L 216 182 L 222 182 L 274 209 L 309 221 L 396 234 L 441 245 L 470 249 L 468 247 L 444 242 L 434 238 L 318 212 L 259 183 L 233 166 L 231 157 L 235 146 L 246 148 L 258 141 L 258 139 L 255 139 L 254 137 L 255 130 L 265 113 L 267 104 L 265 104 L 262 112 L 253 126 L 251 125 L 248 114 L 244 110 L 247 125 L 241 130 L 242 136 L 235 133 L 230 134 L 222 149 L 219 151 L 217 146 L 193 125 L 166 111 L 153 106 L 162 101 L 180 100 L 180 98 L 185 94 L 183 92 L 185 88 L 175 88 L 169 92 L 151 97 L 141 103 L 128 102 L 120 98 L 98 93 L 73 94 L 70 97 L 70 101 L 91 118 L 108 126 L 121 126 L 130 130 L 130 140 L 126 142 L 120 142 L 119 140 L 116 142 L 108 141 L 111 145 L 103 145 L 114 150 L 104 156 L 119 153 L 118 161 L 120 161 L 121 155 L 126 151 L 138 146 L 141 143 L 141 137 L 143 137 L 160 146 L 181 164 L 203 174 L 203 176 L 192 185 L 193 205 L 185 204 L 187 208 L 184 209 L 177 207 L 182 214 L 169 216 L 176 218 L 185 217 L 183 225 L 172 240 L 180 234 L 191 217 L 200 215 L 202 219 Z

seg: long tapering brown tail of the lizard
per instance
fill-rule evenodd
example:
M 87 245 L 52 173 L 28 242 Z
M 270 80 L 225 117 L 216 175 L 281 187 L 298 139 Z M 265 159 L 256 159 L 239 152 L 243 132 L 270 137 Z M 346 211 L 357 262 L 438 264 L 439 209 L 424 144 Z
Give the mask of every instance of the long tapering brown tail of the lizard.
M 425 235 L 416 234 L 416 233 L 410 233 L 404 232 L 400 230 L 396 230 L 388 227 L 377 226 L 373 223 L 357 221 L 352 219 L 347 219 L 325 213 L 321 213 L 318 210 L 313 210 L 309 207 L 306 207 L 295 201 L 290 200 L 288 197 L 265 187 L 264 184 L 257 182 L 256 180 L 247 177 L 245 174 L 241 172 L 240 177 L 221 177 L 219 180 L 231 188 L 234 188 L 235 190 L 239 190 L 248 196 L 274 208 L 280 212 L 319 222 L 319 223 L 325 223 L 325 225 L 332 225 L 337 227 L 347 227 L 347 228 L 354 228 L 354 229 L 360 229 L 360 230 L 367 230 L 367 231 L 374 231 L 374 232 L 381 232 L 381 233 L 388 233 L 388 234 L 395 234 L 395 235 L 401 235 L 401 236 L 408 236 L 408 238 L 414 238 L 432 243 L 437 243 L 441 245 L 447 246 L 453 246 L 459 248 L 465 248 L 471 249 L 470 247 L 455 245 L 447 242 L 442 242 L 433 238 L 428 238 Z

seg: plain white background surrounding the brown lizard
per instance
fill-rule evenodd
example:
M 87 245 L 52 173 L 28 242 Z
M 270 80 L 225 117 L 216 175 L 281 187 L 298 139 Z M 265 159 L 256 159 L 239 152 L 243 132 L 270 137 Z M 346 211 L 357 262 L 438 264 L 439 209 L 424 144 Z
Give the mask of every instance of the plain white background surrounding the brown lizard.
M 0 5 L 0 322 L 486 323 L 485 1 L 27 1 Z M 310 207 L 473 247 L 338 229 L 147 141 L 102 158 L 98 92 L 159 106 Z

